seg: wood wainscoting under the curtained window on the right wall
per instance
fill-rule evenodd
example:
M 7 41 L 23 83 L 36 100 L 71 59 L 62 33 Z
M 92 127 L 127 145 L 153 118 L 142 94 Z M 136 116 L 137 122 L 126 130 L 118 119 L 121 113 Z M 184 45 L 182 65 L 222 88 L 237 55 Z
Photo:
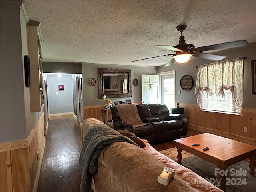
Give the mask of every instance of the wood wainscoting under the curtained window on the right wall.
M 240 116 L 201 111 L 197 104 L 180 103 L 180 106 L 185 108 L 188 128 L 256 145 L 256 109 L 243 108 Z

